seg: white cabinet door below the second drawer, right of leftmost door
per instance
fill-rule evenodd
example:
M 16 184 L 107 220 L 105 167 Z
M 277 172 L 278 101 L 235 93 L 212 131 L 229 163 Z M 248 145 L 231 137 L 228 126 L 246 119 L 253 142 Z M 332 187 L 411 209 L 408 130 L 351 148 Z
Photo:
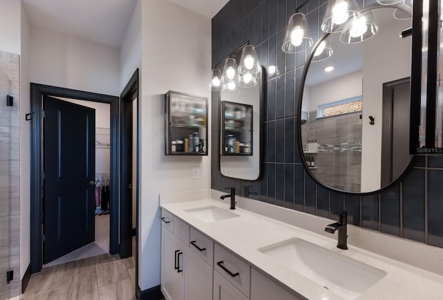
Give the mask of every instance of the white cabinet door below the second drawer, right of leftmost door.
M 213 299 L 213 268 L 191 250 L 185 254 L 185 299 Z

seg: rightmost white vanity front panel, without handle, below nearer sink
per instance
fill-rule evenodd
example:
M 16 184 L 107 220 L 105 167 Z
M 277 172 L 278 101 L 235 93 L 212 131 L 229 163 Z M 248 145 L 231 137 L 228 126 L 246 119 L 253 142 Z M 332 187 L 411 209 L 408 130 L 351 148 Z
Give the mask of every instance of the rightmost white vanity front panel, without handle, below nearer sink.
M 305 299 L 304 297 L 297 297 L 291 294 L 280 285 L 264 276 L 257 270 L 251 271 L 251 300 L 297 300 Z

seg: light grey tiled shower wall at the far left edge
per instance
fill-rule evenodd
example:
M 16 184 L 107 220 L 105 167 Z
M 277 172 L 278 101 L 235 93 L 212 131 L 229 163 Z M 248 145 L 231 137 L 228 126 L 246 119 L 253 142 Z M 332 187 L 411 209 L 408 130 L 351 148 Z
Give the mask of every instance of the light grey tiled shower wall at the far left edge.
M 18 296 L 20 285 L 19 78 L 19 55 L 0 51 L 0 299 Z M 6 283 L 10 270 L 15 280 Z

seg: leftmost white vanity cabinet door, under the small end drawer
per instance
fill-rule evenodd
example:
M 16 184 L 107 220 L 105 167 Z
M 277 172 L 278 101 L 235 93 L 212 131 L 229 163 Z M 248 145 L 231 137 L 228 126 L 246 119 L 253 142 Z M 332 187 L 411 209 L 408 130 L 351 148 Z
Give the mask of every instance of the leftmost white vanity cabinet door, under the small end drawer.
M 183 300 L 184 245 L 168 229 L 161 231 L 161 291 L 167 300 Z

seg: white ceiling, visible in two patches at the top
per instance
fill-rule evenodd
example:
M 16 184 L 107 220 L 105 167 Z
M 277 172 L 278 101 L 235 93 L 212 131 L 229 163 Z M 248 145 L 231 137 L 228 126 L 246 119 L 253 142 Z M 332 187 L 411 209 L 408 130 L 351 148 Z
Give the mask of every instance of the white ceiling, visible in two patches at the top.
M 22 0 L 34 26 L 120 48 L 137 0 Z M 143 0 L 141 0 L 143 1 Z M 170 0 L 212 19 L 228 0 Z

